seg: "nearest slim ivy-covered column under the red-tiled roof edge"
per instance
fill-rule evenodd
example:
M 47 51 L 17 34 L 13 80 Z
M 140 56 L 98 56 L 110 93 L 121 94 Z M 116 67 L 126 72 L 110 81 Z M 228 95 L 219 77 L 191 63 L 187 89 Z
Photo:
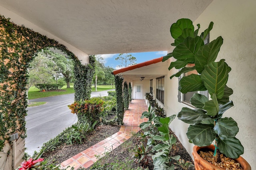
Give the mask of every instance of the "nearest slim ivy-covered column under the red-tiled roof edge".
M 122 76 L 115 75 L 115 86 L 116 86 L 116 114 L 118 125 L 123 124 L 124 118 L 124 101 L 123 101 L 123 80 Z

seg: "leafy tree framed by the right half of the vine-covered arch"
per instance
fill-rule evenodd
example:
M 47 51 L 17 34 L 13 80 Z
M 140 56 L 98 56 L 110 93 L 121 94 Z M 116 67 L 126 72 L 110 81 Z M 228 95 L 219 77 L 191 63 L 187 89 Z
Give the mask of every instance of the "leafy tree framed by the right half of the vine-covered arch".
M 67 83 L 67 88 L 70 88 L 70 82 L 74 77 L 73 60 L 50 50 L 44 51 L 44 54 L 47 55 L 53 61 L 52 68 L 56 71 L 56 74 L 54 75 L 56 83 L 58 83 L 58 79 L 61 76 L 64 76 L 64 80 Z

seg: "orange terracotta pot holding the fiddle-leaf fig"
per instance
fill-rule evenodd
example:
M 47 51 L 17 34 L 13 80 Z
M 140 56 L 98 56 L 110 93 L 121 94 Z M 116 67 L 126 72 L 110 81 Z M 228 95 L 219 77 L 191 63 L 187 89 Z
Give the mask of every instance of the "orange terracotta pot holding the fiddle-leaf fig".
M 207 147 L 198 147 L 198 146 L 193 147 L 192 154 L 194 156 L 194 165 L 195 165 L 196 170 L 223 170 L 222 168 L 218 168 L 217 166 L 210 164 L 209 162 L 207 162 L 206 160 L 201 158 L 201 156 L 198 154 L 198 150 L 200 150 L 200 149 L 208 149 L 208 150 L 214 151 L 215 147 L 214 147 L 214 145 L 210 145 Z M 238 163 L 240 163 L 243 170 L 251 170 L 251 166 L 241 156 L 235 160 Z

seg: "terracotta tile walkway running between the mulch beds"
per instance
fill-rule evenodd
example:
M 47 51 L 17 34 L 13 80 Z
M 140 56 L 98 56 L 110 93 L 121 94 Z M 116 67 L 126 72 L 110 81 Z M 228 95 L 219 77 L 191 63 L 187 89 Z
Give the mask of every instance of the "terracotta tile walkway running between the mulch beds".
M 140 123 L 148 121 L 146 118 L 140 119 L 142 113 L 147 110 L 148 107 L 145 100 L 132 100 L 129 109 L 124 112 L 124 125 L 121 126 L 119 132 L 65 160 L 60 164 L 60 168 L 67 168 L 68 166 L 70 166 L 68 170 L 71 167 L 74 167 L 75 170 L 79 167 L 88 168 L 96 162 L 98 156 L 104 156 L 106 152 L 111 152 L 124 143 L 125 140 L 129 139 L 131 131 L 140 131 Z

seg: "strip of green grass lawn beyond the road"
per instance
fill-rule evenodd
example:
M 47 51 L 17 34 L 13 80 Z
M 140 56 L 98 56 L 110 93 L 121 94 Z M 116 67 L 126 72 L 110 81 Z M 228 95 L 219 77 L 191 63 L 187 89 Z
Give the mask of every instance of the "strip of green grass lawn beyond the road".
M 63 86 L 61 89 L 62 91 L 46 91 L 41 92 L 38 88 L 35 86 L 32 86 L 28 90 L 28 100 L 30 99 L 36 99 L 36 98 L 45 98 L 50 96 L 58 96 L 62 94 L 71 94 L 74 93 L 73 84 L 70 85 L 71 88 L 67 88 L 67 86 Z M 113 86 L 115 88 L 115 86 Z M 114 89 L 111 85 L 104 85 L 104 86 L 97 86 L 97 91 L 103 91 L 103 90 L 111 90 Z M 92 92 L 95 92 L 95 88 L 92 87 Z

